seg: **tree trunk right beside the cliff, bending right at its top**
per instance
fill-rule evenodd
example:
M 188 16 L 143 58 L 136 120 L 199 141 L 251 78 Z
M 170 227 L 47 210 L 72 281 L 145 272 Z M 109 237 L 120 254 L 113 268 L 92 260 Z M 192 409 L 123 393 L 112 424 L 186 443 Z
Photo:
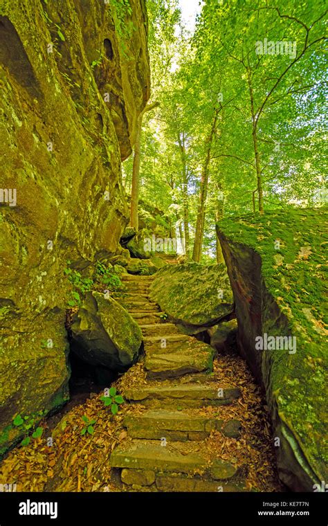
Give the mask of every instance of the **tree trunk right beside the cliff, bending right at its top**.
M 136 123 L 136 140 L 134 143 L 134 165 L 132 168 L 131 183 L 131 208 L 130 208 L 130 225 L 136 228 L 138 232 L 138 202 L 139 202 L 139 172 L 140 172 L 140 150 L 141 150 L 141 130 L 143 127 L 143 116 L 146 111 L 150 111 L 159 106 L 159 102 L 153 102 L 147 105 L 138 116 Z

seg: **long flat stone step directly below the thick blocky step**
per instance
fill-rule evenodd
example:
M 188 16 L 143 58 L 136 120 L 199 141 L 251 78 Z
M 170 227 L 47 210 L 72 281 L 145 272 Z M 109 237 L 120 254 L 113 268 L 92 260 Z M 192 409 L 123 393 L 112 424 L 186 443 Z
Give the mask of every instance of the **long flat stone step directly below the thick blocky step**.
M 197 385 L 194 383 L 180 386 L 143 386 L 127 389 L 124 397 L 131 403 L 143 406 L 203 407 L 225 406 L 240 397 L 239 388 L 221 388 L 215 385 Z

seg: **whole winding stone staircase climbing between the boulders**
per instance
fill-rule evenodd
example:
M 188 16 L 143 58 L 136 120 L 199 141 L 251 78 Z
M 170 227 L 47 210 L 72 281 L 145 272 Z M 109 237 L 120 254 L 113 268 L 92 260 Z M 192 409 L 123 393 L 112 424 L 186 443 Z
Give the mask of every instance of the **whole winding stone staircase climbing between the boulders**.
M 125 291 L 116 300 L 143 332 L 146 379 L 122 393 L 131 412 L 127 439 L 111 453 L 114 475 L 126 491 L 244 491 L 244 473 L 204 442 L 215 432 L 239 437 L 239 421 L 219 416 L 239 389 L 219 388 L 210 374 L 212 347 L 181 334 L 149 300 L 152 276 L 122 279 Z

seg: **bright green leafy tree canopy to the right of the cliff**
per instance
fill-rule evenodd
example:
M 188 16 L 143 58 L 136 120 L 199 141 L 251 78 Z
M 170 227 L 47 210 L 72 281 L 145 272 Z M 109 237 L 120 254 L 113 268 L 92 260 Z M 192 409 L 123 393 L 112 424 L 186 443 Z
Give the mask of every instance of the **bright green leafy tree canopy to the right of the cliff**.
M 147 0 L 147 9 L 152 100 L 160 107 L 155 116 L 145 114 L 140 197 L 170 215 L 182 234 L 186 214 L 192 248 L 217 112 L 201 262 L 215 258 L 216 221 L 253 212 L 253 197 L 259 208 L 254 127 L 264 210 L 327 202 L 325 3 L 206 0 L 194 35 L 175 0 Z M 295 42 L 295 59 L 257 54 L 255 44 L 264 39 Z M 132 162 L 123 165 L 127 191 Z

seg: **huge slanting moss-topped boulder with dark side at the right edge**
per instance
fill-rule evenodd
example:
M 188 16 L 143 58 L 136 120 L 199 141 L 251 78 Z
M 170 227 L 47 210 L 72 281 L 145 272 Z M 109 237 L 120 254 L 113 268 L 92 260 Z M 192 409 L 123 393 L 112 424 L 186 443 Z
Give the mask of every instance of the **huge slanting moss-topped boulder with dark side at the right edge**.
M 323 209 L 217 225 L 239 347 L 266 390 L 279 475 L 293 491 L 313 491 L 328 480 L 325 225 Z

